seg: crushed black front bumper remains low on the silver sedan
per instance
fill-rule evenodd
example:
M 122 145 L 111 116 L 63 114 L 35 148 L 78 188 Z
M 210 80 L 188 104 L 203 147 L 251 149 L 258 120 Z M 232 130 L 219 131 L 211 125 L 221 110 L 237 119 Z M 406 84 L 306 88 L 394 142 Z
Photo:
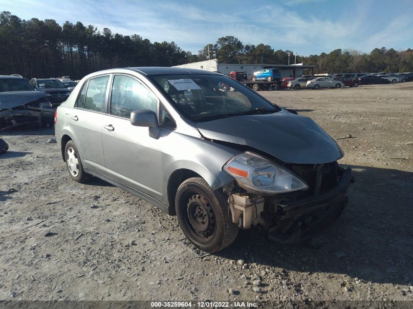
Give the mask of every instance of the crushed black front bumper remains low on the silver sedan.
M 301 242 L 337 219 L 348 204 L 348 185 L 354 181 L 350 167 L 340 172 L 338 184 L 325 193 L 295 201 L 272 201 L 276 225 L 267 229 L 268 239 L 284 244 Z

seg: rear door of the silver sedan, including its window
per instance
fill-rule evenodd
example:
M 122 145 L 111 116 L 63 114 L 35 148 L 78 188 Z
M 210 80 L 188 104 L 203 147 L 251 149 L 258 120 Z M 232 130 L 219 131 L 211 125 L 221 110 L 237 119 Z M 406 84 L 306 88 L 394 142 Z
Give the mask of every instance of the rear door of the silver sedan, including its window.
M 70 115 L 70 131 L 84 167 L 105 174 L 102 124 L 105 120 L 110 75 L 84 83 Z

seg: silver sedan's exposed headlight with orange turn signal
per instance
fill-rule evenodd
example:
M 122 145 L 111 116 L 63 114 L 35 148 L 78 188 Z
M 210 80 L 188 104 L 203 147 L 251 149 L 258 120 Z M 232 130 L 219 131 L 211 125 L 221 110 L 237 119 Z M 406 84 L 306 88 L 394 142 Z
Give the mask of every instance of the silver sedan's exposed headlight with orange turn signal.
M 266 194 L 308 189 L 308 185 L 289 170 L 252 152 L 244 152 L 229 160 L 223 170 L 245 188 Z

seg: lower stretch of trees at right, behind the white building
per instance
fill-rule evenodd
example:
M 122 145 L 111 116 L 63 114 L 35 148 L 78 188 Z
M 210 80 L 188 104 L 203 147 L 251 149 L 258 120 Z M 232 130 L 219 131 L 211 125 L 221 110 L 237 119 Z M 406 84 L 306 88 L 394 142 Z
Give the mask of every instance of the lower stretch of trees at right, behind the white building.
M 290 55 L 288 57 L 288 55 Z M 289 61 L 288 61 L 288 58 Z M 222 63 L 315 65 L 317 73 L 413 72 L 413 49 L 396 51 L 386 47 L 374 48 L 370 54 L 358 50 L 335 49 L 332 52 L 307 57 L 290 50 L 273 49 L 270 45 L 244 45 L 233 36 L 222 37 L 207 44 L 197 54 L 198 61 L 217 59 Z

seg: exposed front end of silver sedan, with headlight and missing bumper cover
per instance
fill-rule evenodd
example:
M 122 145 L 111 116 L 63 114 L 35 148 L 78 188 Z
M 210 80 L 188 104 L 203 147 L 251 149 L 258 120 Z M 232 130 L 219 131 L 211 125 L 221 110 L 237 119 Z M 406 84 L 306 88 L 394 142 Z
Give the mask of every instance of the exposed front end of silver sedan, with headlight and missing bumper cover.
M 232 221 L 241 228 L 260 227 L 281 243 L 304 241 L 333 222 L 354 182 L 351 168 L 337 162 L 276 164 L 248 151 L 223 168 L 236 179 L 223 188 Z

